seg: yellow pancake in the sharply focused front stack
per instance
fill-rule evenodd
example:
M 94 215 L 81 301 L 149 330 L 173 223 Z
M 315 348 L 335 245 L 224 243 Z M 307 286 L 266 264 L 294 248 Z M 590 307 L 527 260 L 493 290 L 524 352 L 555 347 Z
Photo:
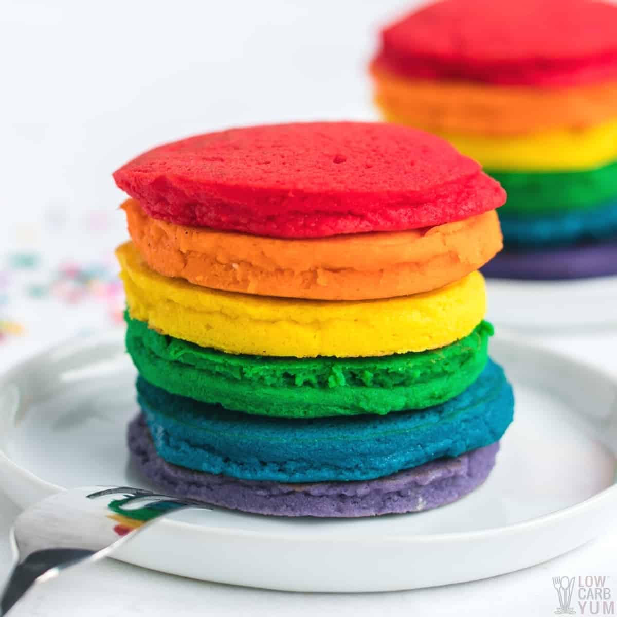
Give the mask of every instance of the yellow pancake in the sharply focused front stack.
M 328 302 L 248 296 L 165 278 L 135 246 L 116 251 L 131 317 L 229 354 L 365 357 L 443 347 L 484 317 L 484 278 L 387 300 Z

